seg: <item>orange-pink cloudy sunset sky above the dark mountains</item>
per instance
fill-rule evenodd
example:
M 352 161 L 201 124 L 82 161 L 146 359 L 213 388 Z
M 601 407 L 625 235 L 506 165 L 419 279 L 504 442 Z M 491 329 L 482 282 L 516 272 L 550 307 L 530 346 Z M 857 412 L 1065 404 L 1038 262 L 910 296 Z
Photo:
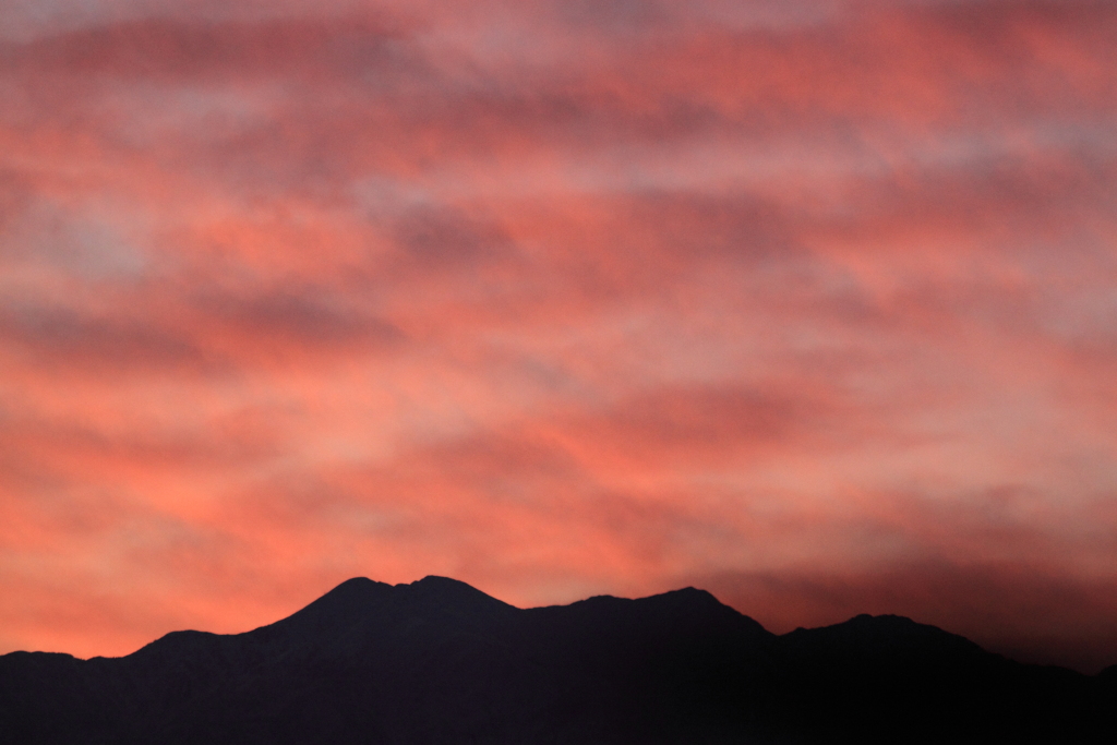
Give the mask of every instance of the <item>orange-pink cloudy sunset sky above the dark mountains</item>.
M 0 3 L 0 652 L 427 574 L 1117 662 L 1117 3 Z

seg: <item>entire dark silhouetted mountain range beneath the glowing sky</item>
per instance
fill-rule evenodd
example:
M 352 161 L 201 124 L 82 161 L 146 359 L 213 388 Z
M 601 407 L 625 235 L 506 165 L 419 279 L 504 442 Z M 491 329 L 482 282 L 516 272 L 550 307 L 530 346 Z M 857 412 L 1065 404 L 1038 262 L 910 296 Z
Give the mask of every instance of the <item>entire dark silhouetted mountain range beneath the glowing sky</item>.
M 700 590 L 521 610 L 350 580 L 233 636 L 0 657 L 0 743 L 1117 742 L 1117 669 L 1020 665 L 905 618 L 784 636 Z

